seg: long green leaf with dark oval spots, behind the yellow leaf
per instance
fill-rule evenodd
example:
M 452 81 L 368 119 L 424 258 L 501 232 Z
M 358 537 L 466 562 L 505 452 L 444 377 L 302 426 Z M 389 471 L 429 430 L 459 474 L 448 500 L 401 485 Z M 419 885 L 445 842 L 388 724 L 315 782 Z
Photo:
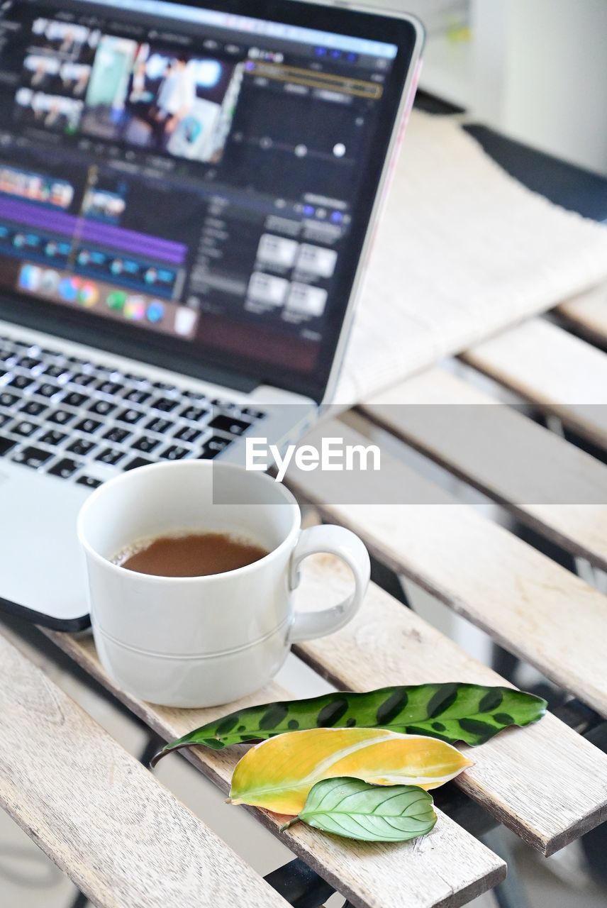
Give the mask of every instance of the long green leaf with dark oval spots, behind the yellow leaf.
M 387 728 L 403 735 L 429 735 L 473 747 L 485 744 L 509 725 L 531 725 L 542 718 L 546 701 L 512 687 L 473 684 L 424 684 L 383 687 L 367 694 L 334 693 L 250 706 L 202 725 L 162 748 L 162 756 L 181 747 L 230 745 L 265 740 L 310 728 Z

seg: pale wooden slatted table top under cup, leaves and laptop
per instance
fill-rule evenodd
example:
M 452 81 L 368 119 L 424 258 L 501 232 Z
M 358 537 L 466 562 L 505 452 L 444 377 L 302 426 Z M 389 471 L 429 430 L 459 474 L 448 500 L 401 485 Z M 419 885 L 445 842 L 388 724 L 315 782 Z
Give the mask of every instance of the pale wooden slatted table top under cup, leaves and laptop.
M 563 302 L 554 315 L 558 323 L 532 319 L 466 350 L 471 369 L 461 377 L 429 370 L 365 401 L 357 428 L 347 416 L 305 439 L 366 444 L 367 436 L 389 433 L 381 474 L 368 475 L 367 503 L 336 503 L 327 475 L 299 476 L 295 491 L 322 518 L 355 530 L 378 563 L 607 716 L 607 597 L 405 463 L 415 449 L 541 537 L 607 569 L 603 459 L 499 404 L 507 389 L 589 439 L 594 453 L 607 448 L 607 288 Z M 494 380 L 494 391 L 479 390 L 480 373 Z M 537 474 L 530 486 L 521 457 L 529 450 L 561 479 L 556 493 Z M 317 607 L 328 591 L 343 597 L 348 583 L 334 558 L 309 559 L 299 607 Z M 45 633 L 167 740 L 228 711 L 143 703 L 105 674 L 91 637 Z M 299 646 L 297 656 L 355 691 L 427 681 L 507 684 L 374 584 L 347 627 Z M 238 706 L 294 696 L 274 683 Z M 0 803 L 94 904 L 287 904 L 2 636 L 0 734 Z M 227 791 L 242 752 L 198 747 L 183 755 Z M 543 854 L 607 819 L 607 755 L 556 716 L 508 729 L 470 753 L 475 765 L 452 785 Z M 302 824 L 280 832 L 271 814 L 252 813 L 356 908 L 455 908 L 504 880 L 504 861 L 441 811 L 430 834 L 397 845 L 351 843 Z

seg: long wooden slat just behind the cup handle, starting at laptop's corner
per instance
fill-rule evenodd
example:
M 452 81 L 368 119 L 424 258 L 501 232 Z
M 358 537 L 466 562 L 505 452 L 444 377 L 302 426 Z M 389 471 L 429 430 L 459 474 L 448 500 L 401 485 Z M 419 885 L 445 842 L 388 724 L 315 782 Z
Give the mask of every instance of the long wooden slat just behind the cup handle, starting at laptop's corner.
M 319 447 L 323 436 L 367 444 L 338 422 L 305 440 Z M 361 489 L 377 503 L 334 504 L 333 473 L 301 473 L 297 483 L 299 495 L 357 532 L 377 558 L 607 716 L 606 597 L 386 451 Z M 397 504 L 407 500 L 423 503 Z

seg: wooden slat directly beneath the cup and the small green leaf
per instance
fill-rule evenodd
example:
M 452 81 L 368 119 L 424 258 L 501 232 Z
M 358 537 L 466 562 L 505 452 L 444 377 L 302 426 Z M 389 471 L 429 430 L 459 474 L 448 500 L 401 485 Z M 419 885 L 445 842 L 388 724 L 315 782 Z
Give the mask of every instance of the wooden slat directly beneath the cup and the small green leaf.
M 230 705 L 173 709 L 144 703 L 113 684 L 99 663 L 90 637 L 45 633 L 167 740 L 236 708 Z M 240 706 L 292 698 L 289 691 L 273 684 L 241 701 Z M 196 747 L 182 753 L 227 792 L 234 765 L 244 751 L 240 746 L 220 752 Z M 226 810 L 236 809 L 226 806 Z M 272 833 L 279 834 L 280 823 L 275 815 L 261 810 L 254 813 Z M 455 908 L 492 888 L 505 876 L 505 864 L 500 858 L 440 812 L 430 834 L 404 844 L 349 842 L 323 835 L 303 824 L 293 826 L 279 837 L 357 908 L 401 908 L 402 905 Z

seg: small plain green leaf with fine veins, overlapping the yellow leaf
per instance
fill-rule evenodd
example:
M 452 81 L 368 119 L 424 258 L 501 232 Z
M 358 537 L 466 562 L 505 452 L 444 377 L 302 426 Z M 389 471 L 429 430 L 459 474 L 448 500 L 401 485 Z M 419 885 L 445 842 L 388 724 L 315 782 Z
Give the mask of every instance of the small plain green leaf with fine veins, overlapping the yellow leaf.
M 324 833 L 361 842 L 406 842 L 426 835 L 436 824 L 432 796 L 423 788 L 369 785 L 350 778 L 314 785 L 298 819 Z

